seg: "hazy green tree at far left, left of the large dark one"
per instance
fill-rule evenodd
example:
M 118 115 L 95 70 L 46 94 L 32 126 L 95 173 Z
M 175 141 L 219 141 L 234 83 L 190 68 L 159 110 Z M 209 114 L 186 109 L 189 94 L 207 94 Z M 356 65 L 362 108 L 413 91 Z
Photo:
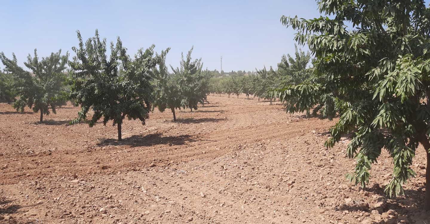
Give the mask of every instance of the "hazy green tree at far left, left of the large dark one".
M 46 58 L 39 58 L 37 50 L 34 49 L 34 57 L 28 54 L 25 66 L 30 72 L 18 66 L 15 54 L 13 58 L 6 58 L 0 53 L 0 60 L 6 66 L 6 72 L 15 77 L 15 89 L 19 99 L 13 107 L 24 112 L 25 107 L 33 109 L 35 113 L 40 111 L 40 123 L 43 123 L 43 114 L 49 115 L 49 107 L 52 113 L 56 113 L 55 107 L 64 104 L 66 97 L 63 71 L 67 65 L 68 53 L 61 55 L 61 50 L 51 53 Z

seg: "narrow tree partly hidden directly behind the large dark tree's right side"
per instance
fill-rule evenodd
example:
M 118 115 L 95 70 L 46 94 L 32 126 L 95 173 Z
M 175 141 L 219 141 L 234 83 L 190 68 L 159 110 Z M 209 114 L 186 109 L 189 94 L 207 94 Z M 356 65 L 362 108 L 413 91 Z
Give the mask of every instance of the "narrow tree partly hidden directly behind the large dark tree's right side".
M 168 50 L 166 50 L 166 52 Z M 165 55 L 165 53 L 161 54 L 159 68 L 153 69 L 155 78 L 154 106 L 157 107 L 160 112 L 163 112 L 166 108 L 172 110 L 173 121 L 176 121 L 175 109 L 181 109 L 183 96 L 178 86 L 177 76 L 169 74 Z

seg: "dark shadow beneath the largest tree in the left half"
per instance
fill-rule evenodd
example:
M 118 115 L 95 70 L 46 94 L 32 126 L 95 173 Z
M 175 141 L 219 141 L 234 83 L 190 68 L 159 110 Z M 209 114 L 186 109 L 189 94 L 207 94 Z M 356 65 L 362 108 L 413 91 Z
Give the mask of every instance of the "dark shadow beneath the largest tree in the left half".
M 172 145 L 183 145 L 187 142 L 197 141 L 197 139 L 193 138 L 191 135 L 178 135 L 171 136 L 166 135 L 162 136 L 161 133 L 155 133 L 150 135 L 132 135 L 129 138 L 123 138 L 123 141 L 117 141 L 114 138 L 104 138 L 100 139 L 98 146 L 106 146 L 106 145 L 130 145 L 132 147 L 141 147 L 141 146 L 153 146 L 158 144 L 168 144 Z

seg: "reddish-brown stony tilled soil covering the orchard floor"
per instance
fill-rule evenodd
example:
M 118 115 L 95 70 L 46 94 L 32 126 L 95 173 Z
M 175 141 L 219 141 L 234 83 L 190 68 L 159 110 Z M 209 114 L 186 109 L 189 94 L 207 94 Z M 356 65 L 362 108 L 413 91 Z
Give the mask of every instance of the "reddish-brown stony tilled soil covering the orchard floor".
M 334 121 L 287 114 L 243 95 L 209 96 L 190 112 L 154 111 L 142 126 L 69 126 L 78 107 L 45 116 L 0 104 L 0 223 L 430 224 L 420 209 L 420 148 L 406 196 L 387 198 L 391 160 L 369 188 L 345 178 L 347 137 L 326 149 Z

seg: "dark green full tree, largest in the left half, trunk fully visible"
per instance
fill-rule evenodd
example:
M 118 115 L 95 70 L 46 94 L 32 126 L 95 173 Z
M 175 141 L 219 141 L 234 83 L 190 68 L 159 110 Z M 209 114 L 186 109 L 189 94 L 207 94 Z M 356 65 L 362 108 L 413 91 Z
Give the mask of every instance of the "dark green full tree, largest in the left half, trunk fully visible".
M 94 111 L 90 127 L 103 118 L 103 125 L 109 120 L 117 125 L 118 141 L 122 141 L 121 125 L 125 118 L 145 120 L 152 109 L 153 86 L 151 70 L 160 62 L 160 55 L 154 56 L 154 45 L 139 49 L 134 58 L 127 55 L 119 37 L 111 42 L 111 55 L 106 55 L 106 39 L 95 37 L 83 43 L 77 31 L 79 46 L 73 47 L 76 56 L 70 61 L 71 98 L 81 105 L 77 119 L 71 123 L 86 120 L 90 109 Z

